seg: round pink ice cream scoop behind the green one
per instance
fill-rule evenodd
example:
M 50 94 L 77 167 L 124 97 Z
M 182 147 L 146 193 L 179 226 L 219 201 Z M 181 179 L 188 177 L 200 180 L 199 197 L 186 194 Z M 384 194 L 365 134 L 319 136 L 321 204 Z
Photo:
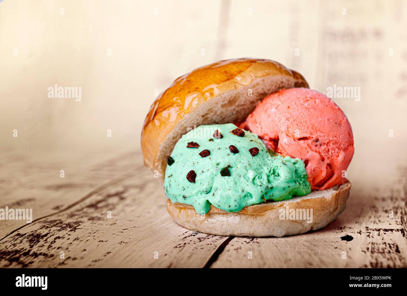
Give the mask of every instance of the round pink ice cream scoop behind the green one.
M 324 94 L 306 88 L 280 90 L 260 102 L 241 127 L 277 153 L 302 159 L 312 189 L 346 182 L 354 152 L 352 128 Z

